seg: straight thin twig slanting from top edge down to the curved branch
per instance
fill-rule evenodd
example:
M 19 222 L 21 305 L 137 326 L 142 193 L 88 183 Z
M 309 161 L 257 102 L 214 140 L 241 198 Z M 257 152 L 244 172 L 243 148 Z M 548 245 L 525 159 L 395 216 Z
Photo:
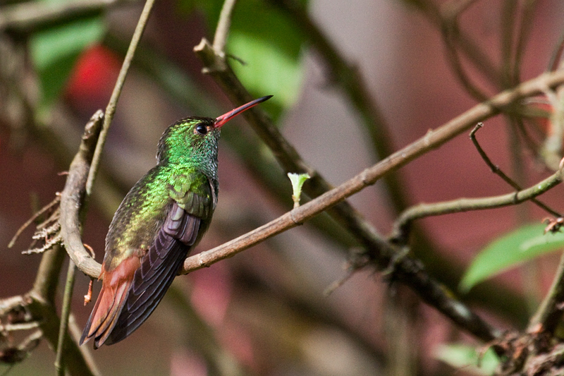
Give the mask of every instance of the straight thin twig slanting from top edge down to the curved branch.
M 121 70 L 119 71 L 118 79 L 116 80 L 116 85 L 114 86 L 114 91 L 111 92 L 111 97 L 108 102 L 108 106 L 106 107 L 106 112 L 104 113 L 104 124 L 102 125 L 102 131 L 100 132 L 98 138 L 96 150 L 94 150 L 94 157 L 92 157 L 92 164 L 90 166 L 90 172 L 88 174 L 88 179 L 86 182 L 86 194 L 88 196 L 90 196 L 90 193 L 92 193 L 92 186 L 94 186 L 96 174 L 99 169 L 100 161 L 102 160 L 102 150 L 104 149 L 104 145 L 106 144 L 106 138 L 108 136 L 111 121 L 114 119 L 118 99 L 121 95 L 121 89 L 123 88 L 123 84 L 125 83 L 125 77 L 128 74 L 131 61 L 133 60 L 133 56 L 135 56 L 135 50 L 137 49 L 137 45 L 141 40 L 143 31 L 145 31 L 145 26 L 147 25 L 147 20 L 151 15 L 153 4 L 154 0 L 147 0 L 145 2 L 143 11 L 141 12 L 141 16 L 139 18 L 139 21 L 137 21 L 135 31 L 133 32 L 133 37 L 131 37 L 129 49 L 127 51 L 127 54 L 125 54 L 125 59 L 123 59 Z

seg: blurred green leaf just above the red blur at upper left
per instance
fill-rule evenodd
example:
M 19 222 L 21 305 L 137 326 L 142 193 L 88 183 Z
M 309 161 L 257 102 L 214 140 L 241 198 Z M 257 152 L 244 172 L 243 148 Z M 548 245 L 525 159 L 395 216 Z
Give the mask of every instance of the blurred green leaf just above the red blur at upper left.
M 73 20 L 32 35 L 30 53 L 39 75 L 43 104 L 59 97 L 73 66 L 85 48 L 102 40 L 102 16 Z

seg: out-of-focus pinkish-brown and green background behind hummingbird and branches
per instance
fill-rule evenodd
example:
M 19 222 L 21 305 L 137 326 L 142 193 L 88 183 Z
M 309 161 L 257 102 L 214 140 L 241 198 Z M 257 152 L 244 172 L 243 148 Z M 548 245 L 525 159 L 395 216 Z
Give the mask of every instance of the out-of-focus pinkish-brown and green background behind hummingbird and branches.
M 231 65 L 255 97 L 274 95 L 261 106 L 303 159 L 337 186 L 372 166 L 386 150 L 375 150 L 374 128 L 366 124 L 347 88 L 331 76 L 326 55 L 277 3 L 281 2 L 238 1 L 227 51 L 245 65 L 235 59 Z M 68 169 L 87 120 L 106 107 L 143 4 L 109 1 L 48 21 L 31 16 L 53 1 L 27 3 L 30 7 L 21 18 L 13 11 L 20 3 L 0 4 L 4 298 L 29 291 L 41 257 L 20 254 L 27 249 L 31 230 L 13 248 L 7 244 L 35 210 L 62 190 L 65 176 L 60 173 Z M 458 35 L 472 40 L 496 68 L 488 74 L 473 63 L 476 56 L 460 53 L 462 68 L 485 95 L 550 68 L 563 32 L 564 4 L 557 0 L 299 4 L 360 73 L 385 120 L 387 132 L 381 138 L 390 151 L 478 102 L 449 63 L 438 21 L 446 11 L 459 7 Z M 127 190 L 154 166 L 157 141 L 166 126 L 185 116 L 216 117 L 235 107 L 214 80 L 201 73 L 202 63 L 192 51 L 202 37 L 212 40 L 219 9 L 221 1 L 155 4 L 118 102 L 85 222 L 84 241 L 100 262 L 111 216 Z M 25 21 L 25 15 L 31 20 Z M 503 80 L 502 74 L 508 40 L 513 45 L 526 40 L 512 56 L 519 59 L 513 81 Z M 496 80 L 498 73 L 501 78 Z M 546 129 L 545 119 L 529 119 L 527 124 Z M 274 158 L 244 119 L 223 129 L 219 205 L 197 252 L 269 222 L 293 205 L 285 172 L 269 167 L 276 166 Z M 548 175 L 550 164 L 522 141 L 518 152 L 513 151 L 519 141 L 507 119 L 486 121 L 477 138 L 492 161 L 508 175 L 519 175 L 524 186 Z M 537 138 L 542 140 L 542 135 L 537 133 Z M 391 231 L 402 206 L 511 192 L 491 174 L 467 136 L 416 159 L 396 178 L 400 193 L 379 182 L 350 198 L 381 234 Z M 396 193 L 403 203 L 394 201 Z M 561 197 L 562 188 L 556 187 L 543 200 L 562 210 Z M 424 219 L 418 224 L 429 247 L 414 245 L 412 251 L 431 275 L 456 290 L 465 267 L 484 245 L 519 224 L 546 217 L 528 203 L 522 207 Z M 407 289 L 390 289 L 381 274 L 365 268 L 324 295 L 345 275 L 347 255 L 356 248 L 344 231 L 331 233 L 306 223 L 236 257 L 178 277 L 145 325 L 127 340 L 94 351 L 94 360 L 104 375 L 452 374 L 453 368 L 437 360 L 441 344 L 479 343 Z M 555 254 L 538 258 L 462 298 L 501 328 L 522 328 L 534 312 L 529 308 L 536 307 L 546 292 L 557 260 Z M 89 281 L 77 274 L 72 308 L 81 328 L 92 310 L 92 304 L 82 305 Z M 61 277 L 61 294 L 63 284 Z M 94 298 L 98 291 L 95 283 Z M 53 352 L 42 341 L 10 375 L 47 374 L 53 361 Z M 7 368 L 0 365 L 0 374 Z M 458 375 L 470 371 L 463 368 Z

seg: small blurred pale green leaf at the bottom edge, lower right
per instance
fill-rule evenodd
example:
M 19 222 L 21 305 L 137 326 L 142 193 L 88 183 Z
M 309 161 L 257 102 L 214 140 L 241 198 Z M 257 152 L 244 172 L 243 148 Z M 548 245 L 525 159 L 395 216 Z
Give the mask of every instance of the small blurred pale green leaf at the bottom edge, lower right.
M 474 347 L 463 344 L 441 345 L 435 349 L 434 356 L 453 368 L 464 368 L 465 372 L 476 375 L 493 374 L 499 363 L 496 353 L 491 348 L 479 358 Z

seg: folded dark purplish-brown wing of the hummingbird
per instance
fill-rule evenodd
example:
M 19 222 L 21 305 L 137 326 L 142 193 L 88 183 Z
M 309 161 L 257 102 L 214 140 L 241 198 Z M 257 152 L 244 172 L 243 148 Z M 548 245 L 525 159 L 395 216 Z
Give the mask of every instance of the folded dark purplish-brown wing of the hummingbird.
M 172 202 L 154 243 L 135 271 L 128 297 L 106 344 L 125 339 L 157 308 L 194 245 L 200 223 L 200 218 Z

